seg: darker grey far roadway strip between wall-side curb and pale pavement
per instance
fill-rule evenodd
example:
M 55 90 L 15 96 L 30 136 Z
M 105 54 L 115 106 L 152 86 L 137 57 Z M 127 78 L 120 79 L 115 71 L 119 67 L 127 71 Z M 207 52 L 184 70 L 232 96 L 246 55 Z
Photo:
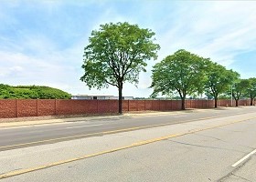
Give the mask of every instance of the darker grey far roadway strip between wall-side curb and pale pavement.
M 56 143 L 82 137 L 103 136 L 124 130 L 145 127 L 175 125 L 198 119 L 219 116 L 240 115 L 256 112 L 255 106 L 238 108 L 219 108 L 197 111 L 170 112 L 163 116 L 121 116 L 119 118 L 94 119 L 91 121 L 65 124 L 27 126 L 13 129 L 0 128 L 0 151 Z

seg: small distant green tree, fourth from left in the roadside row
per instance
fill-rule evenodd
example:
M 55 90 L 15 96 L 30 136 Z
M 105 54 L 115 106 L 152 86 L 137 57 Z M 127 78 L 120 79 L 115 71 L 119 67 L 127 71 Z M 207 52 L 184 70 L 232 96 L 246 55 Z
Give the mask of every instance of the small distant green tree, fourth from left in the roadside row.
M 245 96 L 248 91 L 250 82 L 248 79 L 240 79 L 232 86 L 232 96 L 236 100 L 236 106 L 239 106 L 239 100 L 241 96 Z

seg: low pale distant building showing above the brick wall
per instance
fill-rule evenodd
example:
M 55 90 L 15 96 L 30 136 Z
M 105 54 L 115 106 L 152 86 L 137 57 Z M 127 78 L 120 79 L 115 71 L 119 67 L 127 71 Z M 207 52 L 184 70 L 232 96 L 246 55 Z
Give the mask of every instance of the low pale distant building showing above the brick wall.
M 76 95 L 72 96 L 74 100 L 118 100 L 118 96 L 102 96 L 102 95 Z M 133 96 L 123 96 L 123 100 L 133 100 Z

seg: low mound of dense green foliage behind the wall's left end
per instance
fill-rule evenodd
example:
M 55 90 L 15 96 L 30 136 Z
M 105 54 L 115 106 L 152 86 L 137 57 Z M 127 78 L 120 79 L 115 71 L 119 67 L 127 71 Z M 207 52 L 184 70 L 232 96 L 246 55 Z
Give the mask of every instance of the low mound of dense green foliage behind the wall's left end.
M 69 99 L 70 97 L 69 93 L 48 86 L 0 85 L 0 98 Z

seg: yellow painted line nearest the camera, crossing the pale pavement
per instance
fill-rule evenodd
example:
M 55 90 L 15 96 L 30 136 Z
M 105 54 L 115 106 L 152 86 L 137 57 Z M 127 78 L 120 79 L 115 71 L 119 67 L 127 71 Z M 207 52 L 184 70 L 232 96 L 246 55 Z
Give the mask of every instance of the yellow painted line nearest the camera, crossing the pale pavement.
M 138 141 L 138 142 L 133 143 L 133 144 L 128 145 L 128 146 L 116 147 L 116 148 L 112 148 L 112 149 L 109 149 L 109 150 L 103 150 L 101 152 L 93 153 L 93 154 L 90 154 L 90 155 L 85 155 L 85 156 L 82 156 L 82 157 L 75 157 L 75 158 L 71 158 L 71 159 L 67 159 L 67 160 L 61 160 L 61 161 L 58 161 L 58 162 L 55 162 L 55 163 L 50 163 L 50 164 L 43 165 L 43 166 L 19 169 L 19 170 L 15 170 L 15 171 L 8 172 L 8 173 L 0 175 L 0 179 L 6 178 L 6 177 L 14 177 L 14 176 L 17 176 L 17 175 L 22 175 L 22 174 L 25 174 L 25 173 L 29 173 L 29 172 L 45 169 L 45 168 L 48 168 L 48 167 L 55 167 L 55 166 L 59 166 L 59 165 L 63 165 L 63 164 L 66 164 L 66 163 L 82 160 L 82 159 L 89 158 L 89 157 L 97 157 L 97 156 L 101 156 L 101 155 L 104 155 L 104 154 L 120 151 L 120 150 L 123 150 L 123 149 L 144 146 L 144 145 L 147 145 L 147 144 L 155 143 L 155 142 L 162 141 L 162 140 L 165 140 L 165 139 L 169 139 L 169 138 L 172 138 L 172 137 L 185 136 L 185 135 L 188 135 L 188 134 L 193 134 L 193 133 L 196 133 L 196 132 L 217 128 L 217 127 L 220 127 L 220 126 L 228 126 L 228 125 L 232 125 L 232 124 L 235 124 L 235 123 L 240 123 L 240 122 L 248 121 L 248 120 L 251 120 L 251 119 L 254 119 L 254 118 L 256 118 L 256 116 L 251 117 L 251 118 L 246 118 L 246 119 L 241 119 L 241 120 L 233 121 L 233 122 L 230 122 L 230 123 L 227 123 L 227 124 L 218 125 L 218 126 L 209 126 L 209 127 L 197 129 L 197 130 L 186 132 L 186 133 L 172 134 L 172 135 L 168 135 L 168 136 L 156 137 L 156 138 L 149 139 L 149 140 Z

